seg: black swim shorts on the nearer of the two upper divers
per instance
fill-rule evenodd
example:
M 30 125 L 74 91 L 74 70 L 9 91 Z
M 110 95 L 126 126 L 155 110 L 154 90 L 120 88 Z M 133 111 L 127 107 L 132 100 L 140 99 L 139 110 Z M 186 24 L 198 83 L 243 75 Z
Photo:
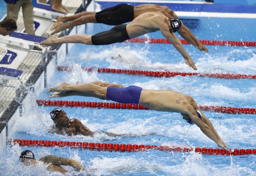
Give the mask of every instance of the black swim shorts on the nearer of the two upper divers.
M 110 30 L 100 32 L 91 36 L 93 45 L 109 45 L 128 40 L 129 35 L 126 31 L 126 24 L 119 24 Z

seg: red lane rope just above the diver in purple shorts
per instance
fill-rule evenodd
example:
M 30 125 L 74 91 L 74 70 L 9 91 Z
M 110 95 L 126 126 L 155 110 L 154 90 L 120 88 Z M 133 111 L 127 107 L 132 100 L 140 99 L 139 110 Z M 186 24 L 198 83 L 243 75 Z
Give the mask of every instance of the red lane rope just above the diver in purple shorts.
M 152 76 L 152 77 L 173 77 L 173 76 L 195 76 L 210 78 L 222 78 L 222 79 L 256 79 L 256 75 L 245 75 L 245 74 L 223 74 L 223 73 L 185 73 L 185 72 L 154 72 L 154 71 L 143 71 L 143 70 L 126 70 L 126 69 L 114 69 L 114 68 L 95 68 L 95 67 L 81 67 L 82 69 L 91 72 L 96 70 L 99 73 L 122 73 L 130 75 L 141 75 L 141 76 Z M 70 71 L 72 67 L 58 66 L 58 71 Z

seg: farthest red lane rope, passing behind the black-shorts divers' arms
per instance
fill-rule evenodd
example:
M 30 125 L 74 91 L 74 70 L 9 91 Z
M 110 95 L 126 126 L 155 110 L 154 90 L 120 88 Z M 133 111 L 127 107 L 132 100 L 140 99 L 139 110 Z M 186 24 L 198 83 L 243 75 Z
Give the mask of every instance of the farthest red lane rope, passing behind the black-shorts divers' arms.
M 133 38 L 126 40 L 125 42 L 144 43 L 149 40 L 149 43 L 154 44 L 171 44 L 167 39 L 158 38 Z M 180 39 L 182 44 L 190 44 L 188 41 Z M 255 41 L 234 41 L 234 40 L 199 40 L 203 45 L 221 45 L 221 46 L 256 46 Z

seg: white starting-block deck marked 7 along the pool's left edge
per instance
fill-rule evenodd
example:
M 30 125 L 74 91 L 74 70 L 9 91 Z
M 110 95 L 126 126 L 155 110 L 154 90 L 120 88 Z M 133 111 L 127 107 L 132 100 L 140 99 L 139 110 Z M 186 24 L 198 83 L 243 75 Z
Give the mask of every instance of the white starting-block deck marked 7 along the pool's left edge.
M 68 16 L 83 10 L 81 0 L 63 0 L 62 3 L 68 8 Z M 88 7 L 89 4 L 85 7 L 93 10 L 94 2 L 89 6 L 91 4 L 93 8 Z M 64 16 L 64 14 L 40 8 L 34 8 L 34 12 L 35 24 L 39 23 L 38 28 L 36 25 L 35 35 L 23 33 L 25 27 L 22 13 L 19 13 L 17 32 L 11 36 L 0 36 L 0 151 L 5 146 L 6 136 L 12 135 L 12 127 L 22 116 L 22 111 L 32 108 L 27 106 L 32 104 L 31 100 L 27 98 L 28 93 L 34 92 L 37 96 L 39 95 L 44 89 L 47 78 L 50 78 L 54 72 L 55 67 L 52 65 L 55 64 L 56 58 L 60 55 L 65 57 L 66 53 L 65 45 L 48 49 L 39 45 L 40 41 L 50 36 L 52 19 L 58 15 Z M 71 31 L 70 28 L 65 33 L 77 31 L 78 29 Z M 55 35 L 63 36 L 64 34 L 59 32 Z M 42 51 L 34 50 L 34 46 L 41 47 Z M 46 72 L 46 70 L 49 71 Z

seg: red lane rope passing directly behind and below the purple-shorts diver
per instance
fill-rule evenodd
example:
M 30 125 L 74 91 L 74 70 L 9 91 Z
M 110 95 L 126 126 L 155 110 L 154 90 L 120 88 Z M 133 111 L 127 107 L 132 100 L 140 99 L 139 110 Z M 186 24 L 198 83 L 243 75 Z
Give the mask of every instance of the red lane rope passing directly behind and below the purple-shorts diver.
M 110 108 L 110 109 L 144 109 L 148 110 L 141 104 L 131 103 L 108 103 L 108 102 L 85 102 L 85 101 L 50 101 L 50 100 L 36 100 L 38 106 L 63 106 L 63 107 L 88 107 L 88 108 Z M 255 108 L 232 108 L 224 106 L 202 106 L 199 108 L 204 111 L 227 113 L 227 114 L 256 114 Z

